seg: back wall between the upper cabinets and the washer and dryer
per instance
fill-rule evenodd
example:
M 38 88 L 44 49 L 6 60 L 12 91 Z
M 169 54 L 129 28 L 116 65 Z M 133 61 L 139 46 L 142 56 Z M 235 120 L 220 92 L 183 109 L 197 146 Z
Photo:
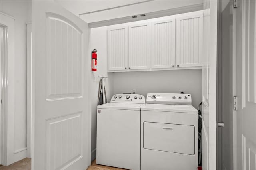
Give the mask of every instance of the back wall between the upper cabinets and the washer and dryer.
M 202 101 L 202 69 L 114 73 L 114 94 L 136 89 L 136 93 L 190 93 L 192 105 Z

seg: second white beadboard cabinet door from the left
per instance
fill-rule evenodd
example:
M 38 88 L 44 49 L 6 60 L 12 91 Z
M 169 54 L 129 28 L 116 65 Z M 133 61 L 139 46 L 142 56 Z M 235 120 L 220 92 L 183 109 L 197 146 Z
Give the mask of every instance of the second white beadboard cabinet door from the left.
M 150 67 L 150 24 L 129 26 L 129 68 L 149 69 Z

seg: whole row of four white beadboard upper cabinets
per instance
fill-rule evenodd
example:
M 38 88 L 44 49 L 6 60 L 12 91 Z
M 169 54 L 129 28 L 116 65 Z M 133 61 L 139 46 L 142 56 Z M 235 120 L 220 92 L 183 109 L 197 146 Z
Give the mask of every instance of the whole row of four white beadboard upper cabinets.
M 108 71 L 202 68 L 202 16 L 195 11 L 108 30 Z

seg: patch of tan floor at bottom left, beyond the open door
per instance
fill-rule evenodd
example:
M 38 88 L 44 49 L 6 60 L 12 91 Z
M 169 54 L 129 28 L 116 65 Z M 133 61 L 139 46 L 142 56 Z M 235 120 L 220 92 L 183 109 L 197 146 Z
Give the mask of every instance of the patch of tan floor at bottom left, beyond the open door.
M 1 166 L 1 170 L 31 170 L 31 158 L 24 158 L 22 160 L 19 160 L 18 162 L 15 162 L 13 164 L 10 164 L 9 166 Z

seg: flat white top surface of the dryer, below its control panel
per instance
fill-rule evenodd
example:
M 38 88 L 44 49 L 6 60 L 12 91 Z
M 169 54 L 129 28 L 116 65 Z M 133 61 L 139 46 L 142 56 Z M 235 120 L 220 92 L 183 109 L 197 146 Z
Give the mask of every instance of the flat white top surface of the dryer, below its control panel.
M 141 107 L 142 111 L 164 111 L 164 112 L 181 112 L 181 113 L 198 113 L 198 110 L 192 105 L 160 105 L 145 104 Z

